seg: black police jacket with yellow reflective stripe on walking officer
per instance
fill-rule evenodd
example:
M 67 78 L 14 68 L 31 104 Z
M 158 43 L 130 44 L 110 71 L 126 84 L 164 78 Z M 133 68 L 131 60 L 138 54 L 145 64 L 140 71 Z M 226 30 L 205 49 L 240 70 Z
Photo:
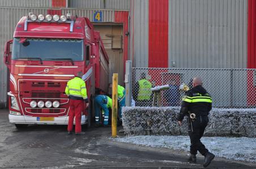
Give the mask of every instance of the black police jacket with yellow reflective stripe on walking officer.
M 182 121 L 185 115 L 194 113 L 195 117 L 207 116 L 212 109 L 212 98 L 202 86 L 195 86 L 186 91 L 182 99 L 178 121 Z

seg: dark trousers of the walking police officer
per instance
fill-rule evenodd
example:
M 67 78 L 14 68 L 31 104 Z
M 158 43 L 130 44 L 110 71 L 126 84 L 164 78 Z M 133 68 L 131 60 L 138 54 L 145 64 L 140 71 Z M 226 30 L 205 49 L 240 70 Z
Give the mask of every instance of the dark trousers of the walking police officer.
M 189 137 L 190 137 L 190 154 L 197 154 L 197 151 L 202 155 L 208 152 L 208 149 L 200 141 L 204 134 L 204 130 L 208 124 L 207 116 L 199 116 L 193 122 L 189 122 Z

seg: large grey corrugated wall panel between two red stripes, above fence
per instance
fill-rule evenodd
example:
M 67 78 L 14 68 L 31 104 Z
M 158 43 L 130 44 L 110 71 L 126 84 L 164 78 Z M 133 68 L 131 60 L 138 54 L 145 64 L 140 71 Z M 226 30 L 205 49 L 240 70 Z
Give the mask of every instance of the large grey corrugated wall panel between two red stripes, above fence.
M 247 9 L 247 0 L 169 0 L 169 67 L 246 68 Z

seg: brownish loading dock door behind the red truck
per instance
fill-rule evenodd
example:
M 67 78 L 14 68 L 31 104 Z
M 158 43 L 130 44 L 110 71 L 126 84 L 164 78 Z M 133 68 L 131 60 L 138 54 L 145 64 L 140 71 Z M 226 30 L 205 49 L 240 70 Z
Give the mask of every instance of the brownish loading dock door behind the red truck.
M 109 57 L 109 82 L 112 82 L 113 73 L 118 73 L 118 84 L 123 83 L 123 49 L 122 25 L 93 25 L 100 32 L 100 37 Z

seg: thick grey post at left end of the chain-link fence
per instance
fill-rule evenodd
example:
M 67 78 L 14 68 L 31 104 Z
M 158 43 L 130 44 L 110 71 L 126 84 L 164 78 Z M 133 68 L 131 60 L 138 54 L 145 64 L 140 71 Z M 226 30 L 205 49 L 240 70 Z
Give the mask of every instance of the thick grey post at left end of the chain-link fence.
M 125 63 L 125 105 L 131 106 L 131 60 Z

